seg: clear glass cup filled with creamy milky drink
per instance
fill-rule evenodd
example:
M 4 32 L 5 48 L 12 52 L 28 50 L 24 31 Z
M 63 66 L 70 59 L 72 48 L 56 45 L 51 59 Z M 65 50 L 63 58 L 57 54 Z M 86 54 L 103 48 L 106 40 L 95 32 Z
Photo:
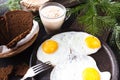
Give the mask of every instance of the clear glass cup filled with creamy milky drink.
M 41 21 L 49 34 L 59 30 L 66 16 L 66 8 L 57 2 L 47 2 L 39 8 Z

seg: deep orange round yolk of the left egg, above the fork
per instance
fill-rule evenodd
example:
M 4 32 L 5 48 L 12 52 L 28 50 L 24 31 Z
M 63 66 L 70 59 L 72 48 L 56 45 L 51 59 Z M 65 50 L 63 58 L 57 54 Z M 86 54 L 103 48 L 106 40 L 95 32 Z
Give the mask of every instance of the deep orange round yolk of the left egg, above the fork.
M 58 43 L 54 40 L 46 40 L 42 44 L 42 50 L 46 54 L 53 54 L 58 49 Z

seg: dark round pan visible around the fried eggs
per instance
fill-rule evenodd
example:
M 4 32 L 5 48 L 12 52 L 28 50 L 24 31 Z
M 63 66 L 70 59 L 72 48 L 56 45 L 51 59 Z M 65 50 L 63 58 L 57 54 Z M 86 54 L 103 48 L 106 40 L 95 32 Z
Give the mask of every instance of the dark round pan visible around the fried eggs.
M 59 34 L 61 32 L 65 32 L 65 31 L 60 31 L 51 35 L 46 35 L 43 38 L 39 38 L 39 40 L 37 40 L 36 46 L 31 55 L 30 66 L 33 66 L 39 63 L 39 61 L 37 60 L 36 54 L 37 54 L 37 49 L 41 45 L 41 43 L 46 39 L 49 39 L 53 35 Z M 100 71 L 109 71 L 111 73 L 111 80 L 118 80 L 119 69 L 118 69 L 118 64 L 117 64 L 115 55 L 105 42 L 103 41 L 101 42 L 102 42 L 102 48 L 96 54 L 92 54 L 90 56 L 92 56 L 95 59 Z M 50 80 L 49 77 L 50 77 L 51 70 L 52 69 L 44 71 L 36 75 L 31 80 Z

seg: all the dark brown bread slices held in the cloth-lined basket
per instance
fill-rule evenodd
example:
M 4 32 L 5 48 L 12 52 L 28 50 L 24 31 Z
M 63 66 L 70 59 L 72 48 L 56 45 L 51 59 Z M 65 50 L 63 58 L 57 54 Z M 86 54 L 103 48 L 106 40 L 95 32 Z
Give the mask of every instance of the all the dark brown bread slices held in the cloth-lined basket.
M 0 16 L 0 45 L 14 47 L 32 29 L 32 13 L 15 10 Z

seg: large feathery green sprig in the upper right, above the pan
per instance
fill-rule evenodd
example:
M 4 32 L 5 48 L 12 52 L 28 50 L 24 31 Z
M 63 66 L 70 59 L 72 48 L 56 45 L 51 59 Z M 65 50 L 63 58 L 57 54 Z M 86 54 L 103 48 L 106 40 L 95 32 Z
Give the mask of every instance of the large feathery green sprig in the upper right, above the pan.
M 120 3 L 110 0 L 87 0 L 86 3 L 71 9 L 79 13 L 77 21 L 84 25 L 84 30 L 99 36 L 106 29 L 113 29 L 120 15 Z

